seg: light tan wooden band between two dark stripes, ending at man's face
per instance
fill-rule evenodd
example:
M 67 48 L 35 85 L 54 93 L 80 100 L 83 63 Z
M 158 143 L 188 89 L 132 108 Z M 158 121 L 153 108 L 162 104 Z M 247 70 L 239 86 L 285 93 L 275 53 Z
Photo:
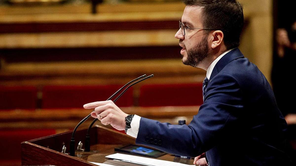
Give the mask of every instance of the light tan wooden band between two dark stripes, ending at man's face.
M 135 47 L 178 45 L 174 30 L 0 34 L 0 48 Z

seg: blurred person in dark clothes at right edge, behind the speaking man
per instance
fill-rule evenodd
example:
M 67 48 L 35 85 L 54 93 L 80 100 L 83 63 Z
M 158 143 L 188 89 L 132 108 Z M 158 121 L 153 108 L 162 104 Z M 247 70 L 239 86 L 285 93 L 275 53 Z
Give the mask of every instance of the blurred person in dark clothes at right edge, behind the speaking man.
M 288 123 L 289 153 L 296 157 L 296 88 L 294 80 L 296 61 L 296 19 L 285 28 L 276 30 L 276 55 L 272 71 L 272 83 L 276 102 Z

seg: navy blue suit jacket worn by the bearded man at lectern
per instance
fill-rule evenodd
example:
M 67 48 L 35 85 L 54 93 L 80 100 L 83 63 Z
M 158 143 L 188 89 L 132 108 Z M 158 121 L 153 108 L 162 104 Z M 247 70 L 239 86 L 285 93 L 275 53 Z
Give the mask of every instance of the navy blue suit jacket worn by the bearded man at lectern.
M 218 61 L 209 81 L 188 126 L 141 118 L 136 144 L 181 156 L 206 152 L 210 166 L 288 165 L 287 123 L 257 66 L 236 48 Z

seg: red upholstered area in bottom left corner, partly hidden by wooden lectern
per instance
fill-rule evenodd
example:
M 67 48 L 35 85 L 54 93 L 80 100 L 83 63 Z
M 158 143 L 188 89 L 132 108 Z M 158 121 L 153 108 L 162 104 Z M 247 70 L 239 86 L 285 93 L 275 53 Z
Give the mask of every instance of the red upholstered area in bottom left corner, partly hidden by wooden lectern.
M 0 130 L 0 165 L 21 165 L 21 142 L 53 134 L 54 129 Z

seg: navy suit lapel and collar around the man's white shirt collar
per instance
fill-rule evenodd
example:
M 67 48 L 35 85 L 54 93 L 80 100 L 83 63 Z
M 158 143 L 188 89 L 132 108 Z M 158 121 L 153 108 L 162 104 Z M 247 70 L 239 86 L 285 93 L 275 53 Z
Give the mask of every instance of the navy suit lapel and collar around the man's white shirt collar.
M 235 48 L 229 53 L 225 54 L 215 65 L 209 81 L 211 81 L 213 77 L 215 77 L 229 62 L 242 57 L 244 57 L 244 55 L 239 51 L 238 48 Z

